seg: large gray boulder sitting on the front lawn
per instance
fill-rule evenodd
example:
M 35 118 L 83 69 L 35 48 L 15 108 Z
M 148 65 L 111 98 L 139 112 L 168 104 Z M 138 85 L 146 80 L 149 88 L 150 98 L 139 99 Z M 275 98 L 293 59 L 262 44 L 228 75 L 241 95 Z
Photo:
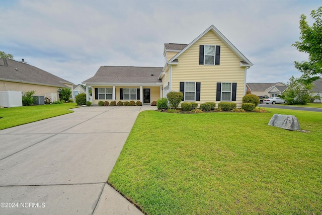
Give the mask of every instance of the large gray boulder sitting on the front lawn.
M 300 130 L 300 124 L 298 120 L 293 115 L 283 115 L 275 113 L 271 118 L 268 125 L 272 125 L 279 128 L 284 128 L 287 130 Z

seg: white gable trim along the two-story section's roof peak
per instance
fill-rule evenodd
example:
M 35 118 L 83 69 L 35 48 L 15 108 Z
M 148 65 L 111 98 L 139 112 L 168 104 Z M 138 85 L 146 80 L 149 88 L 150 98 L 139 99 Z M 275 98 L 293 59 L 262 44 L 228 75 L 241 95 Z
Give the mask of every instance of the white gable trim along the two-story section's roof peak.
M 196 39 L 194 39 L 191 43 L 189 43 L 184 49 L 182 49 L 178 54 L 176 54 L 173 58 L 171 58 L 168 62 L 171 62 L 178 58 L 183 52 L 185 52 L 190 46 L 192 46 L 196 41 L 198 41 L 201 37 L 203 37 L 206 33 L 212 31 L 241 61 L 245 61 L 248 63 L 248 66 L 252 66 L 253 63 L 247 59 L 223 34 L 218 31 L 213 25 L 211 25 L 207 30 L 205 30 L 202 34 L 200 34 Z M 245 65 L 244 65 L 245 66 Z

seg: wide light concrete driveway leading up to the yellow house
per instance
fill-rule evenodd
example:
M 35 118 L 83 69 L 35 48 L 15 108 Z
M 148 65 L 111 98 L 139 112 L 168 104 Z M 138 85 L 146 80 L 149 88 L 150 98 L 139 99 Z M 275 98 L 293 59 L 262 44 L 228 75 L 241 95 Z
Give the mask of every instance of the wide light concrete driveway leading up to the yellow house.
M 142 214 L 106 182 L 148 109 L 81 107 L 0 130 L 0 214 Z

